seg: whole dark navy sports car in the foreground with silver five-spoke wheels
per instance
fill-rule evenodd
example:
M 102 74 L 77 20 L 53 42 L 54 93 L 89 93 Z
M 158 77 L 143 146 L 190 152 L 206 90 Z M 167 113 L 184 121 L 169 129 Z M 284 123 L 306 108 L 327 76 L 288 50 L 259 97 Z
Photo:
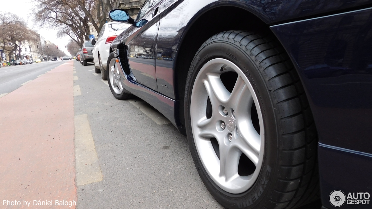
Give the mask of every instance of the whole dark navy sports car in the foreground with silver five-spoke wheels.
M 111 10 L 133 25 L 111 44 L 109 88 L 187 135 L 226 208 L 320 197 L 371 208 L 371 3 L 147 0 L 136 20 Z

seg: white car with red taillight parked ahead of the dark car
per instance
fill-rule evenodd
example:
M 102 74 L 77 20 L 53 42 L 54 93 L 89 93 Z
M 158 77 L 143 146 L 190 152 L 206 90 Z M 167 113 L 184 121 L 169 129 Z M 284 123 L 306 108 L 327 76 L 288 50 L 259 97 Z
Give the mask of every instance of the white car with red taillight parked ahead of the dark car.
M 109 57 L 111 42 L 132 24 L 126 22 L 108 22 L 98 34 L 93 49 L 93 62 L 96 73 L 101 73 L 102 80 L 107 80 L 106 63 Z

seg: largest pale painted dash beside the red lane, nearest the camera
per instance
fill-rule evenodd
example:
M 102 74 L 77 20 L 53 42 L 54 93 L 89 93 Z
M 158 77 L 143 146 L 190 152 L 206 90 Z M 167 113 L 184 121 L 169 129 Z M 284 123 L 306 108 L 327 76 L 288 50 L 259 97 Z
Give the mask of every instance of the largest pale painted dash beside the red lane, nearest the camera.
M 74 116 L 74 124 L 76 184 L 81 186 L 102 181 L 102 171 L 99 166 L 88 116 L 86 114 Z

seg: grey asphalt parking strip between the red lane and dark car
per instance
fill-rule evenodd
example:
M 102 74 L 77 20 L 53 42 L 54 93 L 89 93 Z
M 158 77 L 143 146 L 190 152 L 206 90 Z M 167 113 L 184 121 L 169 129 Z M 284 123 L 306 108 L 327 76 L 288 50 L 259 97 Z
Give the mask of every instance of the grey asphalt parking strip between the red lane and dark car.
M 115 99 L 93 65 L 74 63 L 81 91 L 75 115 L 88 116 L 103 175 L 77 186 L 78 209 L 222 208 L 202 183 L 185 136 Z

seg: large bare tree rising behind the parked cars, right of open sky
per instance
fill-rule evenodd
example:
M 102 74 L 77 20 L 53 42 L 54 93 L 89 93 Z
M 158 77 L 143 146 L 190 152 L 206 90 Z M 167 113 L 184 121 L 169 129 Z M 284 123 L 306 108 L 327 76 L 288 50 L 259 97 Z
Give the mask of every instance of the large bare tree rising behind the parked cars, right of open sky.
M 35 0 L 35 22 L 57 28 L 58 36 L 69 36 L 79 46 L 88 40 L 90 22 L 99 33 L 106 23 L 109 0 Z

